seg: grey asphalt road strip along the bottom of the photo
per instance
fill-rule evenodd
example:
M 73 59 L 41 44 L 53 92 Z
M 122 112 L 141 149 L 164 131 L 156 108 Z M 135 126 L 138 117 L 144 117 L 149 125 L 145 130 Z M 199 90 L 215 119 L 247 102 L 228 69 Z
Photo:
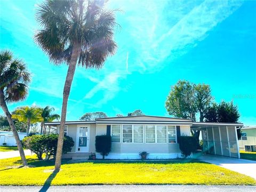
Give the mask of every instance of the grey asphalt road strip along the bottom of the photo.
M 43 188 L 42 186 L 0 186 L 0 191 L 93 191 L 93 192 L 133 192 L 133 191 L 147 191 L 147 192 L 166 192 L 166 191 L 182 191 L 182 192 L 209 192 L 209 191 L 256 191 L 256 186 L 188 186 L 188 185 L 94 185 L 94 186 L 51 186 Z

